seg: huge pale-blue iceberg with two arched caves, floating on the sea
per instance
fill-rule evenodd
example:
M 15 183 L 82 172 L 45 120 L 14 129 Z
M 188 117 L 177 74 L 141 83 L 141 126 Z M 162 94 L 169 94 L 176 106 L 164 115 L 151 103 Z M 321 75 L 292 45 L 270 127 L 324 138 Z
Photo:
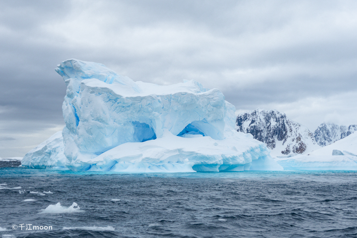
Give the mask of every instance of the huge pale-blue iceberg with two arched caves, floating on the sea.
M 32 168 L 118 172 L 282 170 L 265 144 L 235 131 L 235 107 L 195 81 L 134 82 L 102 64 L 70 59 L 66 126 L 28 152 Z

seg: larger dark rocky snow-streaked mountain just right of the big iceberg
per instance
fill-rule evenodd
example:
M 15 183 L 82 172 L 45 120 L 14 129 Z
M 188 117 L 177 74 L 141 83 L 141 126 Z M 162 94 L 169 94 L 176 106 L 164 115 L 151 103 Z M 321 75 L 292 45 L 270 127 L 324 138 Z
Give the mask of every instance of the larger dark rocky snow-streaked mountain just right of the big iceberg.
M 241 113 L 237 116 L 236 130 L 251 133 L 255 139 L 266 143 L 273 157 L 307 154 L 321 148 L 307 127 L 277 110 L 257 108 Z

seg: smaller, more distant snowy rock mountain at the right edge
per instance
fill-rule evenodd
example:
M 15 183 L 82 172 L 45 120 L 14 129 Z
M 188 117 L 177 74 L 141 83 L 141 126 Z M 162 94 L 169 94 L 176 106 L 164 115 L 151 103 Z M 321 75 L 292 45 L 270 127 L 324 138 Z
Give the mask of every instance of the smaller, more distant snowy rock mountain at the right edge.
M 357 125 L 338 126 L 335 123 L 321 123 L 313 136 L 320 146 L 327 146 L 357 131 Z

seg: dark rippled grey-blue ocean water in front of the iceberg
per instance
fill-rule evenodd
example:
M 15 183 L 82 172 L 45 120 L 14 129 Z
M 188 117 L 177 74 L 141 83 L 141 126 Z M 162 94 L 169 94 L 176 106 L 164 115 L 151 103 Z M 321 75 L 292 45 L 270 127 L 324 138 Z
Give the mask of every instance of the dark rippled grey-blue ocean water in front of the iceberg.
M 3 167 L 0 184 L 0 237 L 357 237 L 353 171 L 129 174 Z M 39 228 L 26 230 L 26 224 Z

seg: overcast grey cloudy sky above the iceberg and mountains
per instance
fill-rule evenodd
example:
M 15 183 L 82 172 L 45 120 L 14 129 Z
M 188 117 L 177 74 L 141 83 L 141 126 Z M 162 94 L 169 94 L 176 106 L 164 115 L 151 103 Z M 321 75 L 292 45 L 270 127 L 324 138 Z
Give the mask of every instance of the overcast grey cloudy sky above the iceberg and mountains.
M 237 112 L 276 109 L 314 131 L 357 124 L 357 1 L 0 0 L 0 157 L 65 126 L 61 61 L 134 81 L 196 80 Z

